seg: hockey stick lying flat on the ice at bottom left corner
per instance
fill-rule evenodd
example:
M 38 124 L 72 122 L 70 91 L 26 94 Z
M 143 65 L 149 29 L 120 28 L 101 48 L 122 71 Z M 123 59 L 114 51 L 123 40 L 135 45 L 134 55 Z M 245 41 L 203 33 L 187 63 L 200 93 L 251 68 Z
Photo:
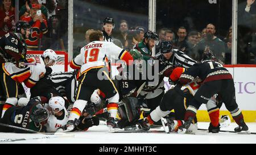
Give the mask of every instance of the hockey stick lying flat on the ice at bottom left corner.
M 20 141 L 20 140 L 36 140 L 36 139 L 52 139 L 52 138 L 59 138 L 59 137 L 73 137 L 73 134 L 65 134 L 65 133 L 55 133 L 51 136 L 44 136 L 44 137 L 32 137 L 32 138 L 22 138 L 22 139 L 0 139 L 0 143 L 3 142 L 11 142 L 11 141 Z

